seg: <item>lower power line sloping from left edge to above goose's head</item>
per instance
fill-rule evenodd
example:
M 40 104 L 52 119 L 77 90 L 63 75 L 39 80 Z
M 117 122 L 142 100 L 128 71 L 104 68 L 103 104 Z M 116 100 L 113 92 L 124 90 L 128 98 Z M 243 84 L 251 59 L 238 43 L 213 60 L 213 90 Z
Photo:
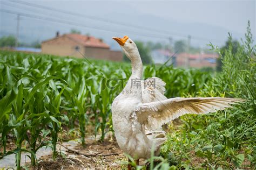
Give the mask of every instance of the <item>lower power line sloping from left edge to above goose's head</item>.
M 15 15 L 21 15 L 24 17 L 29 17 L 29 18 L 36 18 L 40 20 L 46 20 L 48 22 L 55 22 L 55 23 L 60 23 L 60 24 L 66 24 L 66 25 L 72 25 L 72 26 L 79 26 L 79 27 L 85 27 L 87 29 L 94 29 L 94 30 L 100 30 L 100 31 L 106 31 L 106 32 L 115 32 L 115 33 L 124 33 L 120 31 L 112 31 L 112 30 L 105 30 L 105 29 L 100 29 L 98 27 L 90 27 L 90 26 L 85 26 L 80 23 L 75 23 L 75 22 L 70 22 L 68 20 L 62 20 L 62 19 L 54 19 L 54 18 L 49 18 L 49 17 L 42 17 L 42 16 L 36 16 L 36 15 L 30 15 L 28 13 L 23 13 L 23 12 L 16 12 L 16 11 L 11 11 L 11 10 L 5 10 L 5 9 L 0 9 L 0 11 L 5 12 L 5 13 L 12 13 Z M 154 36 L 154 35 L 149 35 L 149 34 L 136 34 L 136 33 L 130 33 L 136 36 L 142 36 L 142 37 L 151 37 L 151 38 L 159 38 L 159 39 L 166 39 L 166 37 L 159 37 L 159 36 Z

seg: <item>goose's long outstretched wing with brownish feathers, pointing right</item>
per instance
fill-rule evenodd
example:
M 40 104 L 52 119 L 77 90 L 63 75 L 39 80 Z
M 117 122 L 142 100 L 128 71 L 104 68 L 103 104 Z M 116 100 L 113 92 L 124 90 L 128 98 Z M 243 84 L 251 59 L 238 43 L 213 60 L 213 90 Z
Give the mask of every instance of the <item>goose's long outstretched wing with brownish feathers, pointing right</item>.
M 244 102 L 241 98 L 193 97 L 169 98 L 163 101 L 143 103 L 136 112 L 138 121 L 147 129 L 158 129 L 185 114 L 207 114 L 231 108 L 230 104 Z

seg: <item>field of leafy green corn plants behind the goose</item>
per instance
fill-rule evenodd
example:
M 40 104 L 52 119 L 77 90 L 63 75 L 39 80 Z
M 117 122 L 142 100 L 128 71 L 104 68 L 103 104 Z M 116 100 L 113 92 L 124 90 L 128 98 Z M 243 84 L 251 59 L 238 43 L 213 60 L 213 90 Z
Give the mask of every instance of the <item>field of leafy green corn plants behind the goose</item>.
M 52 158 L 56 159 L 63 125 L 72 131 L 79 122 L 82 145 L 88 124 L 102 140 L 107 131 L 112 131 L 111 103 L 130 76 L 129 64 L 93 61 L 90 65 L 82 59 L 5 51 L 0 55 L 1 141 L 3 154 L 8 154 L 6 135 L 14 133 L 17 149 L 10 152 L 17 154 L 17 168 L 21 152 L 31 153 L 31 164 L 35 165 L 35 154 L 44 145 L 52 147 Z M 211 79 L 206 72 L 172 67 L 156 70 L 147 66 L 144 74 L 169 82 L 169 97 L 194 95 Z M 22 147 L 24 141 L 29 144 L 26 149 Z

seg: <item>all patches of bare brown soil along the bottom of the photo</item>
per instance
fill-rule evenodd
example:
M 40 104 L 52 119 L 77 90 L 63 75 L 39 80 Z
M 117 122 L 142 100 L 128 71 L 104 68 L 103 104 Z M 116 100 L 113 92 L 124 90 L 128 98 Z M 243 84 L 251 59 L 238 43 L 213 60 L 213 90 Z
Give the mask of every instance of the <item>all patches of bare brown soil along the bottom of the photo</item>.
M 44 155 L 38 159 L 36 167 L 26 164 L 29 169 L 126 169 L 127 158 L 120 150 L 115 139 L 105 140 L 103 143 L 92 138 L 86 138 L 86 146 L 80 144 L 62 145 L 63 152 L 58 154 L 57 160 L 53 161 L 52 154 Z M 74 147 L 75 146 L 75 147 Z M 15 144 L 8 142 L 6 150 L 13 150 Z M 206 162 L 206 158 L 199 158 L 194 151 L 191 151 L 192 167 L 201 167 Z M 185 161 L 185 160 L 184 160 Z M 192 163 L 193 162 L 193 163 Z M 140 165 L 144 165 L 140 160 Z M 245 159 L 242 165 L 245 169 L 250 169 L 250 161 Z

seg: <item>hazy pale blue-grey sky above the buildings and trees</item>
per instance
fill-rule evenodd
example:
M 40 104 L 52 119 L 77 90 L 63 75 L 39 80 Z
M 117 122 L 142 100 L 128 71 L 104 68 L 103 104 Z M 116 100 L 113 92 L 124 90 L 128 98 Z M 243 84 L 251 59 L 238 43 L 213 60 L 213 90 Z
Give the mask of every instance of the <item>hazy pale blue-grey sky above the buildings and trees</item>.
M 77 12 L 81 16 L 70 16 L 68 13 L 40 9 L 7 0 L 0 0 L 0 9 L 16 13 L 29 13 L 32 16 L 65 19 L 86 25 L 79 27 L 22 16 L 19 37 L 21 41 L 26 42 L 46 40 L 55 36 L 56 31 L 63 34 L 75 28 L 83 34 L 90 33 L 92 36 L 103 38 L 112 47 L 116 43 L 112 41 L 111 37 L 124 36 L 124 34 L 137 40 L 163 43 L 169 42 L 169 36 L 174 40 L 186 40 L 187 36 L 191 35 L 191 43 L 195 46 L 206 45 L 210 41 L 214 42 L 214 39 L 215 44 L 223 45 L 227 39 L 227 32 L 233 33 L 235 39 L 244 37 L 248 20 L 251 21 L 254 37 L 256 34 L 255 1 L 21 1 L 43 5 L 46 8 Z M 111 20 L 113 23 L 90 19 L 83 15 Z M 115 25 L 115 22 L 121 22 L 121 24 Z M 126 25 L 122 25 L 122 23 L 126 23 Z M 129 24 L 133 26 L 129 27 Z M 17 14 L 0 12 L 1 35 L 15 35 L 16 25 Z M 146 29 L 137 29 L 139 26 L 157 31 L 149 32 Z M 160 30 L 167 31 L 167 35 Z M 150 34 L 151 37 L 145 36 L 145 34 Z M 152 38 L 152 35 L 157 38 Z M 116 45 L 116 47 L 118 46 Z

